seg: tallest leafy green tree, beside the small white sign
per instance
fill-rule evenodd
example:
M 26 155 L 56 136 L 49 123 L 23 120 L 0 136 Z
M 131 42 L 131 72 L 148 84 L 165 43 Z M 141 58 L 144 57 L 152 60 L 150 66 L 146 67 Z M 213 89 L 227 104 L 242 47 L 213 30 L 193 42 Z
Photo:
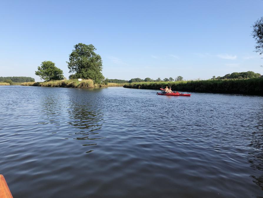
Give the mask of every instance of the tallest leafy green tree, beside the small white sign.
M 101 84 L 104 80 L 102 75 L 102 60 L 94 51 L 96 48 L 90 44 L 79 43 L 74 45 L 74 50 L 69 55 L 69 73 L 74 73 L 74 78 L 92 79 L 94 83 Z

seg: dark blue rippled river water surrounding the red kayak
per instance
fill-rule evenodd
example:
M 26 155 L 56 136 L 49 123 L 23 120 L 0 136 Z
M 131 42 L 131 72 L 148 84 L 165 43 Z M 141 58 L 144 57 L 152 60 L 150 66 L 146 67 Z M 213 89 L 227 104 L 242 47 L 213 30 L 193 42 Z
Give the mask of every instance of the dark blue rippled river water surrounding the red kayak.
M 263 97 L 0 86 L 16 197 L 262 197 Z

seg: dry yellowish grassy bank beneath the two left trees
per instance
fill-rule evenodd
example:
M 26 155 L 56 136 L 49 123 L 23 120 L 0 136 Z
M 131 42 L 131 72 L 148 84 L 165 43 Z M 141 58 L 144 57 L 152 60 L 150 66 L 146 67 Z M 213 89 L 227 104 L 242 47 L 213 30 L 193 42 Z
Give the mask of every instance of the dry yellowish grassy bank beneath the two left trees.
M 25 82 L 21 83 L 22 86 L 41 86 L 41 87 L 75 87 L 75 88 L 94 88 L 94 87 L 110 87 L 110 86 L 124 86 L 124 83 L 108 83 L 94 84 L 93 80 L 87 79 L 78 81 L 74 80 L 58 80 L 58 81 L 46 81 L 46 82 Z

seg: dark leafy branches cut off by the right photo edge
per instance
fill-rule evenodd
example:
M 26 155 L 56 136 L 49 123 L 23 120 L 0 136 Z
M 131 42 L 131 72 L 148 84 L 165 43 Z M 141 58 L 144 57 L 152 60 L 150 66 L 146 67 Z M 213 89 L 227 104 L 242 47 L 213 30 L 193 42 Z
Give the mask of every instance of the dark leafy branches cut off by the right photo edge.
M 259 55 L 262 55 L 263 54 L 263 17 L 261 17 L 261 19 L 257 19 L 257 21 L 252 27 L 253 27 L 253 31 L 251 35 L 256 41 L 255 52 L 259 53 Z

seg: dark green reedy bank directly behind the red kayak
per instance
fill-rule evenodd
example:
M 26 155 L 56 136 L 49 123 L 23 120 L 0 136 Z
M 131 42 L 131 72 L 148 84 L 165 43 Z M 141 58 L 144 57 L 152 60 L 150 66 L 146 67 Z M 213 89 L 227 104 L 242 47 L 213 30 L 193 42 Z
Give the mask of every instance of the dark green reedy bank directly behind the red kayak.
M 211 92 L 226 94 L 263 95 L 263 78 L 246 80 L 202 80 L 202 81 L 175 81 L 175 82 L 140 82 L 124 85 L 126 88 L 159 89 L 171 86 L 172 90 Z

